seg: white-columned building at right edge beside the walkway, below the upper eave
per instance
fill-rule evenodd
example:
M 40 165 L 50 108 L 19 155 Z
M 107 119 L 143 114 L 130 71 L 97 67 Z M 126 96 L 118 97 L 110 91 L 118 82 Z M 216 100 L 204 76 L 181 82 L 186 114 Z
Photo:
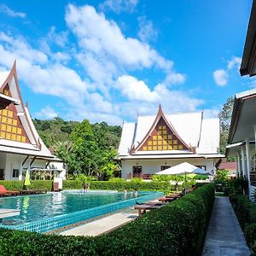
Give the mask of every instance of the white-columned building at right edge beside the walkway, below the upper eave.
M 247 177 L 250 191 L 256 189 L 256 89 L 236 94 L 227 156 L 236 156 L 237 176 Z

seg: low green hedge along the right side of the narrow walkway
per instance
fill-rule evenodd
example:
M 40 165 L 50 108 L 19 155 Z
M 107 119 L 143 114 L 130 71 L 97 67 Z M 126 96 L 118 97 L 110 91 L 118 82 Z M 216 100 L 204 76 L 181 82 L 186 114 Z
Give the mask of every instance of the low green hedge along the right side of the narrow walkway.
M 253 255 L 256 255 L 256 205 L 245 195 L 230 195 L 230 201 L 241 224 L 247 244 L 251 247 Z

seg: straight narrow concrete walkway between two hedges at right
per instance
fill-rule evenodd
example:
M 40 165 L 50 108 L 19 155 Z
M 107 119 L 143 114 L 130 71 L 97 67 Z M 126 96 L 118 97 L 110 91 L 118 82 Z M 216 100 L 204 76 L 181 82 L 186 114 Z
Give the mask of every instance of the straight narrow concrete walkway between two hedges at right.
M 215 197 L 202 256 L 251 255 L 227 196 Z

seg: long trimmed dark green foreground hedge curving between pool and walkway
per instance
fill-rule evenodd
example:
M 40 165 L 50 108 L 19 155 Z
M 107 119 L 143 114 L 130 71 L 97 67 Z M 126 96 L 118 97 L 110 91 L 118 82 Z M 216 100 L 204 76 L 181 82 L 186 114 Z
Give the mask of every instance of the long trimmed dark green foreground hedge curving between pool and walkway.
M 213 201 L 207 184 L 98 237 L 0 230 L 0 255 L 201 255 Z

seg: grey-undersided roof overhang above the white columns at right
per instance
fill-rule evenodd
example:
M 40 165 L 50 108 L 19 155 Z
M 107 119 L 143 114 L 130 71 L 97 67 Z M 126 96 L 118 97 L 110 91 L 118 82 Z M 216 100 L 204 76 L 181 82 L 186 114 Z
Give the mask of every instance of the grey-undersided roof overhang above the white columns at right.
M 232 113 L 229 144 L 245 139 L 254 140 L 253 125 L 256 125 L 256 89 L 236 94 Z

